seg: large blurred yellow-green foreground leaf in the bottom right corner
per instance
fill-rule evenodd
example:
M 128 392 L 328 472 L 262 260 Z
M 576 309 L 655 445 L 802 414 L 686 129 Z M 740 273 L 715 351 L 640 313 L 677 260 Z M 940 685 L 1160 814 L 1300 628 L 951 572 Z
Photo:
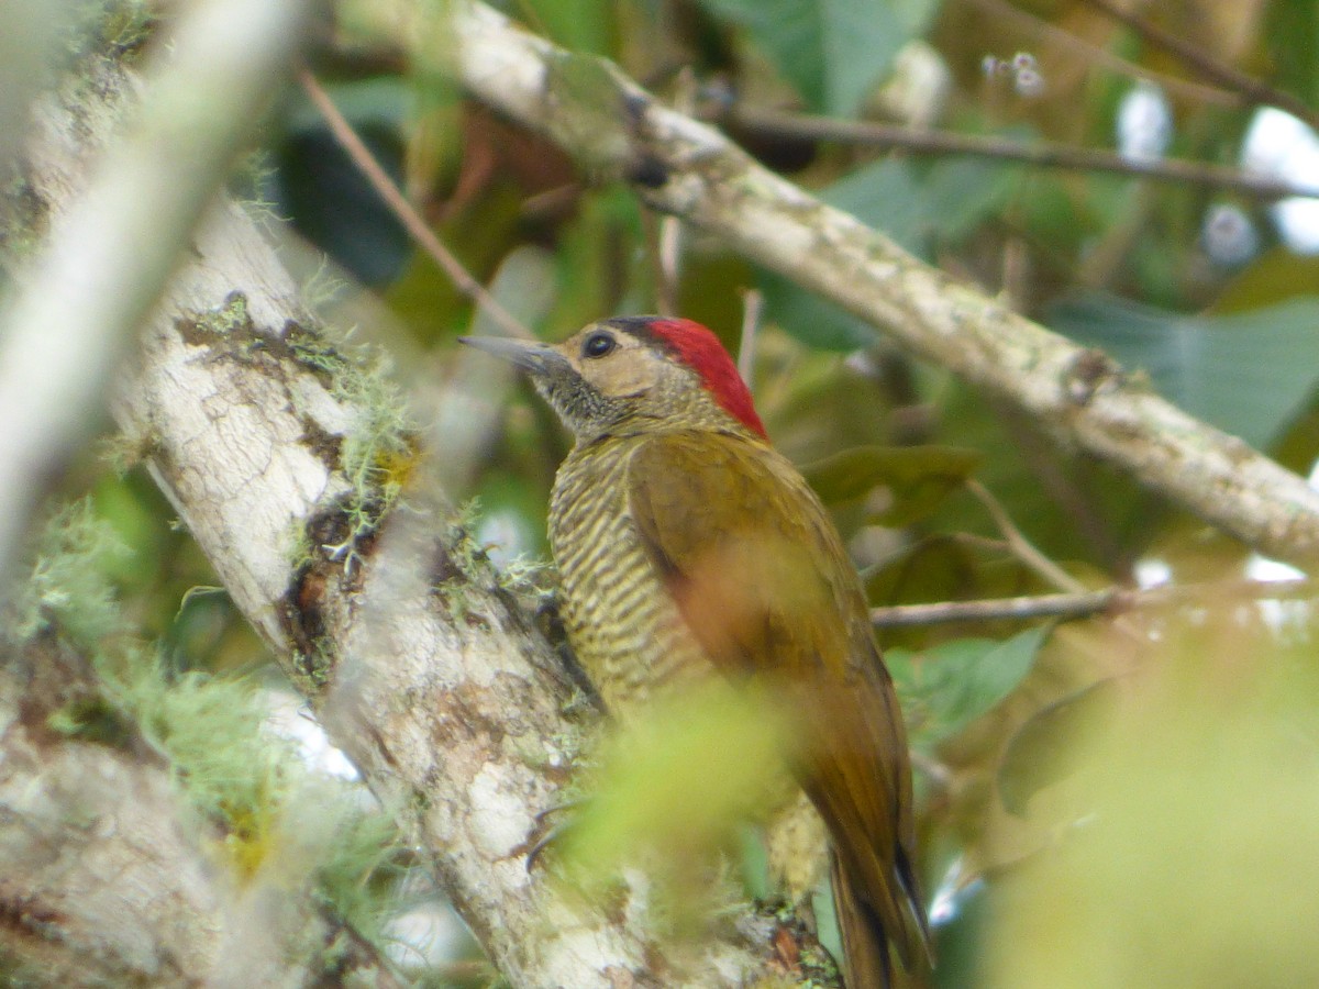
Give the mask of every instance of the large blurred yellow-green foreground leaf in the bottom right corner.
M 1122 686 L 1054 847 L 997 884 L 984 984 L 1319 985 L 1312 637 L 1198 609 Z

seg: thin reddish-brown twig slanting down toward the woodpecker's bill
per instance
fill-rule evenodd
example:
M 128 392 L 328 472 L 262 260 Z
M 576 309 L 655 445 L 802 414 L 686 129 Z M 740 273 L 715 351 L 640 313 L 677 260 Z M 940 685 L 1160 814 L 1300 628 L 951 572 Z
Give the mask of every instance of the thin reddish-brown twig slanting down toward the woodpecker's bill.
M 413 240 L 421 244 L 426 253 L 434 258 L 435 264 L 443 269 L 450 281 L 458 286 L 458 290 L 483 309 L 509 336 L 532 339 L 532 331 L 522 326 L 512 313 L 504 309 L 485 290 L 485 286 L 472 277 L 471 272 L 463 266 L 463 262 L 458 260 L 454 252 L 445 247 L 441 239 L 435 236 L 435 232 L 417 214 L 412 203 L 402 194 L 402 190 L 389 178 L 389 174 L 381 167 L 380 162 L 371 153 L 371 149 L 357 136 L 357 132 L 352 129 L 352 124 L 348 123 L 347 117 L 339 112 L 334 100 L 330 99 L 330 94 L 317 82 L 311 71 L 299 69 L 298 82 L 302 84 L 307 98 L 321 112 L 321 116 L 324 117 L 326 124 L 330 127 L 330 133 L 334 135 L 339 146 L 347 152 L 352 164 L 357 166 L 357 170 L 371 182 L 372 189 L 385 200 L 389 211 L 404 224 L 404 228 L 412 235 Z

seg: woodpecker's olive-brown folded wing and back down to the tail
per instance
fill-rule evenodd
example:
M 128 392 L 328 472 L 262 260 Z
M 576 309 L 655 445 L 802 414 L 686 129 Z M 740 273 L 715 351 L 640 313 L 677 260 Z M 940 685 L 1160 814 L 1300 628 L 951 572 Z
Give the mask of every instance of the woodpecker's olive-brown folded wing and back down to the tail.
M 919 964 L 926 938 L 902 716 L 860 580 L 819 500 L 768 444 L 707 431 L 641 444 L 628 498 L 645 551 L 710 661 L 783 691 L 802 736 L 790 758 L 853 877 L 853 899 L 905 964 Z

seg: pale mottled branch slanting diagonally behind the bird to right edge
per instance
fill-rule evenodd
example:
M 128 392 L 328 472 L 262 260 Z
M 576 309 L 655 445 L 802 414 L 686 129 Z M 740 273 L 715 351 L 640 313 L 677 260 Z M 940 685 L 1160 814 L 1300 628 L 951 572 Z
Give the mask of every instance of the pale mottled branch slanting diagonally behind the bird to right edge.
M 836 302 L 1261 553 L 1319 563 L 1319 492 L 1101 352 L 918 261 L 608 63 L 570 55 L 480 3 L 430 11 L 398 4 L 396 20 L 379 26 L 591 174 L 630 181 L 656 210 Z

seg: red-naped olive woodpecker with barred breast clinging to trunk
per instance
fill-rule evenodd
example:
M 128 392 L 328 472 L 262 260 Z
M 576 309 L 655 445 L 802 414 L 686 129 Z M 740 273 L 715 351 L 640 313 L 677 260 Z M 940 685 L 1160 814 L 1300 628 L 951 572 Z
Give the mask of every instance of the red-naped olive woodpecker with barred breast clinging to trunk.
M 766 439 L 719 339 L 686 319 L 594 323 L 513 361 L 575 436 L 550 505 L 568 640 L 617 717 L 718 670 L 782 691 L 789 764 L 831 837 L 848 985 L 929 964 L 911 769 L 861 583 L 828 514 Z

